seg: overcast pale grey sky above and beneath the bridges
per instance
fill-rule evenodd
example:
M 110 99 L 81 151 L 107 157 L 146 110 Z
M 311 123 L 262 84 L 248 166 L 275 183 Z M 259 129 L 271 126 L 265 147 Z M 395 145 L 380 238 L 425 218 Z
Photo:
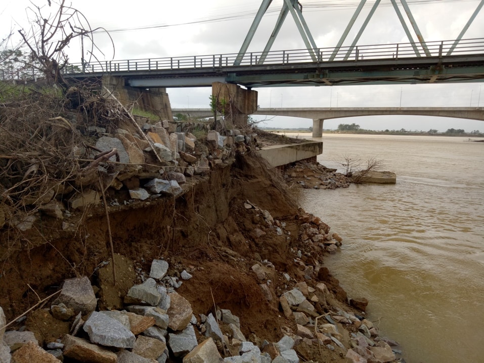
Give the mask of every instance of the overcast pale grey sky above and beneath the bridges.
M 426 41 L 455 39 L 476 9 L 480 0 L 439 0 L 420 2 L 407 0 L 413 16 Z M 249 51 L 260 52 L 274 28 L 283 0 L 274 0 L 250 44 Z M 10 29 L 28 29 L 29 1 L 17 0 L 0 5 L 0 36 Z M 45 6 L 47 0 L 34 0 Z M 96 34 L 95 41 L 106 59 L 161 58 L 187 55 L 238 53 L 261 0 L 145 0 L 141 2 L 110 2 L 73 0 L 73 8 L 89 20 L 92 28 L 104 27 L 114 40 Z M 300 0 L 303 15 L 319 48 L 336 46 L 358 0 Z M 357 19 L 344 45 L 355 38 L 374 0 Z M 403 9 L 401 11 L 404 13 Z M 405 13 L 404 13 L 405 14 Z M 477 15 L 464 38 L 484 37 L 484 9 Z M 389 0 L 381 5 L 370 20 L 358 44 L 408 42 L 402 25 Z M 80 43 L 74 41 L 68 50 L 70 61 L 80 61 Z M 303 49 L 304 43 L 290 15 L 276 39 L 272 50 Z M 114 54 L 113 54 L 114 53 Z M 256 88 L 260 107 L 414 107 L 414 106 L 484 106 L 482 83 L 451 85 L 394 86 L 322 86 Z M 209 88 L 169 88 L 173 108 L 209 107 Z M 274 117 L 267 126 L 309 127 L 312 120 Z M 421 116 L 371 116 L 325 121 L 325 128 L 337 128 L 339 123 L 358 123 L 368 129 L 445 131 L 463 128 L 484 131 L 483 121 Z

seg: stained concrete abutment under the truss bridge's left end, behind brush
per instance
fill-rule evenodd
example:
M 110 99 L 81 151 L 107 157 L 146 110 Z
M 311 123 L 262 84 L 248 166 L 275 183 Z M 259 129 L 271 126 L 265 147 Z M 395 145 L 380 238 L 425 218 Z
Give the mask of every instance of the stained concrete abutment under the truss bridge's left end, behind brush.
M 170 100 L 166 88 L 137 88 L 125 85 L 124 78 L 116 76 L 103 76 L 102 85 L 123 105 L 136 103 L 142 111 L 158 115 L 164 120 L 173 120 Z

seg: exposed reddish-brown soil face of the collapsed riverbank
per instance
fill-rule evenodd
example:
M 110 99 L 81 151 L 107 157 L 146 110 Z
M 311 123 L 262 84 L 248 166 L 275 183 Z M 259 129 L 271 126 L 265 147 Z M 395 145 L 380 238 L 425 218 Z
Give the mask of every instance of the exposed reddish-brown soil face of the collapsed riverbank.
M 284 317 L 274 292 L 280 294 L 295 282 L 304 281 L 304 268 L 294 258 L 297 250 L 302 251 L 308 265 L 323 262 L 323 249 L 310 248 L 298 239 L 300 225 L 315 217 L 298 210 L 282 178 L 271 174 L 250 153 L 238 155 L 232 165 L 216 168 L 208 176 L 194 177 L 184 189 L 176 199 L 110 208 L 114 251 L 119 254 L 116 264 L 129 258 L 141 270 L 149 271 L 151 261 L 163 257 L 170 263 L 170 274 L 183 269 L 192 272 L 193 279 L 179 292 L 190 301 L 194 313 L 207 314 L 215 302 L 240 316 L 242 332 L 253 339 L 277 341 L 285 330 L 294 330 L 294 321 Z M 274 233 L 260 213 L 244 207 L 246 201 L 286 223 L 290 237 Z M 34 229 L 15 236 L 9 230 L 2 231 L 2 241 L 8 243 L 2 244 L 6 258 L 1 266 L 0 305 L 8 320 L 37 303 L 39 297 L 56 291 L 66 278 L 85 275 L 97 284 L 98 268 L 110 259 L 104 208 L 90 208 L 63 222 L 75 228 L 62 229 L 60 221 L 46 217 Z M 265 234 L 257 237 L 256 228 Z M 261 282 L 250 270 L 265 259 L 275 266 L 267 270 L 273 284 L 272 301 L 263 295 Z M 106 276 L 111 274 L 109 268 L 101 270 Z M 118 276 L 116 287 L 122 296 L 137 277 L 135 271 L 119 270 L 124 272 Z M 282 271 L 295 280 L 283 281 Z M 320 277 L 337 293 L 335 296 L 346 300 L 337 280 L 328 274 Z M 103 306 L 103 299 L 101 296 L 100 307 L 108 308 Z M 340 304 L 336 300 L 333 303 Z M 346 361 L 337 350 L 299 349 L 307 359 Z

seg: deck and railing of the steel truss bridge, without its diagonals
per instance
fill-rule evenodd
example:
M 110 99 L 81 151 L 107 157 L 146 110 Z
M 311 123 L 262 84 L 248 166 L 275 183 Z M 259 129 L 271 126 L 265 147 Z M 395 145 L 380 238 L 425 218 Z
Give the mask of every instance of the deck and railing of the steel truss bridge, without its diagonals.
M 416 56 L 415 43 L 166 57 L 73 64 L 73 78 L 114 75 L 132 87 L 200 87 L 213 82 L 264 86 L 451 83 L 484 80 L 484 38 L 427 42 L 428 55 Z M 453 49 L 452 49 L 453 48 Z M 350 51 L 349 56 L 346 53 Z M 452 51 L 450 55 L 449 51 Z M 264 62 L 260 63 L 260 59 Z M 236 63 L 238 63 L 236 65 Z

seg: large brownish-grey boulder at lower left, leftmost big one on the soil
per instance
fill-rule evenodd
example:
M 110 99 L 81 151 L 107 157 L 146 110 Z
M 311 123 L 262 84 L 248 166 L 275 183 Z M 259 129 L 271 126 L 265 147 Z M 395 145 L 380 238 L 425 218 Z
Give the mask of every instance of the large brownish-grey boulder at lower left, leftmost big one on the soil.
M 87 277 L 68 279 L 64 281 L 62 291 L 55 304 L 64 303 L 75 312 L 88 314 L 96 309 L 97 301 L 93 287 Z

